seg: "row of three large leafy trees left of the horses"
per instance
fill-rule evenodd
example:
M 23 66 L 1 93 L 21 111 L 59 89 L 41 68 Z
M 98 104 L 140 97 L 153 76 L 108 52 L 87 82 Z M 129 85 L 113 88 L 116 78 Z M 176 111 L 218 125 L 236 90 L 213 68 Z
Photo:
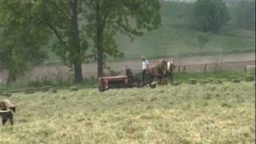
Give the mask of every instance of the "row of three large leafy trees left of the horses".
M 46 58 L 51 47 L 82 82 L 82 63 L 120 57 L 115 35 L 131 39 L 161 25 L 158 0 L 0 0 L 0 69 L 8 82 Z M 53 38 L 54 35 L 54 38 Z

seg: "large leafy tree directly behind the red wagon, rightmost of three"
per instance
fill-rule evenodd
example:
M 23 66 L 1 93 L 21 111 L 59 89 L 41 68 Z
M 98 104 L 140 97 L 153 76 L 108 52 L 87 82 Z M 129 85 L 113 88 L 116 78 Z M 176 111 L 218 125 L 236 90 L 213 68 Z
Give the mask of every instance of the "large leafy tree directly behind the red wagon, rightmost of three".
M 85 0 L 87 32 L 94 42 L 98 59 L 98 77 L 102 77 L 104 56 L 120 56 L 117 34 L 131 39 L 161 25 L 158 0 Z

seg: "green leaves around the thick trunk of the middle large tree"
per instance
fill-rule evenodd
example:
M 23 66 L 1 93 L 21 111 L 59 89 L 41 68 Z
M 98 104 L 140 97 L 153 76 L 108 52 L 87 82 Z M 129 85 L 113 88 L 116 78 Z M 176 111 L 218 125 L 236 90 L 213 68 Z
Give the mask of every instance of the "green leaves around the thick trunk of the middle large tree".
M 86 62 L 86 50 L 88 49 L 86 42 L 86 33 L 84 30 L 78 29 L 74 32 L 75 26 L 71 26 L 72 7 L 70 1 L 38 1 L 41 9 L 38 13 L 43 14 L 42 21 L 52 31 L 55 37 L 53 50 L 68 65 L 75 65 Z M 44 9 L 47 7 L 47 9 Z M 82 14 L 82 5 L 77 6 L 78 15 Z M 78 25 L 82 25 L 81 21 L 77 21 Z M 74 35 L 75 33 L 75 35 Z M 73 39 L 78 34 L 77 42 Z M 78 46 L 76 46 L 78 45 Z

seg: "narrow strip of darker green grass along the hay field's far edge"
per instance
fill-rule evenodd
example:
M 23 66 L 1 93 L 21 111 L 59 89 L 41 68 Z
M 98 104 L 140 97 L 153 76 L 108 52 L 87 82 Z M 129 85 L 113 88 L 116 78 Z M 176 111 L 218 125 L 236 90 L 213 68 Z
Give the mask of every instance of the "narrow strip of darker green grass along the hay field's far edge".
M 135 74 L 136 77 L 142 78 L 142 73 Z M 245 77 L 252 76 L 251 74 L 246 74 L 245 72 L 234 72 L 234 71 L 222 71 L 218 73 L 174 73 L 174 82 L 182 82 L 182 81 L 188 81 L 191 78 L 203 80 L 206 78 L 245 78 Z M 84 81 L 80 84 L 77 84 L 78 88 L 97 88 L 98 87 L 98 81 L 97 79 L 91 80 L 91 79 L 83 79 Z M 26 82 L 26 83 L 20 83 L 20 82 L 14 82 L 10 85 L 0 85 L 0 91 L 3 90 L 22 90 L 26 87 L 34 87 L 36 89 L 40 89 L 42 86 L 53 86 L 57 89 L 68 89 L 70 86 L 73 86 L 73 82 L 56 82 L 56 81 L 47 81 L 47 82 Z

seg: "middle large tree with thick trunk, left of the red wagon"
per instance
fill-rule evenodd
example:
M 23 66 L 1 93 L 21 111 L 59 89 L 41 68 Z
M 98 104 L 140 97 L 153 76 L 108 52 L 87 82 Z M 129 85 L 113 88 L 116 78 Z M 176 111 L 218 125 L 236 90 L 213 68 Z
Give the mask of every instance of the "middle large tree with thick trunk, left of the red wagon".
M 53 50 L 67 65 L 74 68 L 74 82 L 82 82 L 82 62 L 86 59 L 85 33 L 79 29 L 82 5 L 78 0 L 38 0 L 34 12 L 38 21 L 48 27 L 57 41 Z

